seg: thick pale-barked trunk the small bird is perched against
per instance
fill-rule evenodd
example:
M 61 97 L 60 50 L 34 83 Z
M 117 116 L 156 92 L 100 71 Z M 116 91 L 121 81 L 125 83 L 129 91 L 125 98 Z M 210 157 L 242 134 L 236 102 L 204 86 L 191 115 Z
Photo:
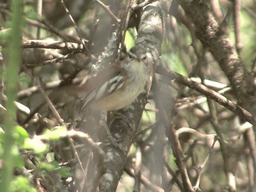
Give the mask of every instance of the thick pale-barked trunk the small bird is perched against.
M 138 36 L 136 40 L 135 52 L 137 56 L 147 53 L 149 79 L 145 87 L 145 92 L 127 108 L 120 110 L 126 117 L 132 127 L 125 120 L 116 120 L 112 126 L 112 135 L 120 138 L 120 145 L 125 152 L 117 149 L 112 145 L 105 146 L 106 158 L 105 166 L 106 174 L 100 180 L 100 191 L 115 191 L 118 181 L 123 173 L 124 163 L 126 161 L 126 153 L 128 152 L 134 133 L 140 122 L 144 106 L 147 101 L 148 93 L 152 84 L 154 69 L 159 62 L 160 46 L 164 31 L 164 20 L 166 18 L 170 1 L 161 0 L 148 5 L 142 12 L 142 18 L 139 25 Z

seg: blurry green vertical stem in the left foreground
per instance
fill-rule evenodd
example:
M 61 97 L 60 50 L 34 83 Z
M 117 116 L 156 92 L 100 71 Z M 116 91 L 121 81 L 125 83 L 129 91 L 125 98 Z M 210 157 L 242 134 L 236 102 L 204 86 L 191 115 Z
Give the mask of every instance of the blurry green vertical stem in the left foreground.
M 11 41 L 8 50 L 8 64 L 6 67 L 6 119 L 4 122 L 5 135 L 4 135 L 4 168 L 2 170 L 2 182 L 1 190 L 9 192 L 10 182 L 12 179 L 13 172 L 13 158 L 12 152 L 14 149 L 14 121 L 16 118 L 16 107 L 14 101 L 16 100 L 17 84 L 18 84 L 18 70 L 21 58 L 21 22 L 20 18 L 22 15 L 22 1 L 12 1 L 12 30 L 11 30 Z

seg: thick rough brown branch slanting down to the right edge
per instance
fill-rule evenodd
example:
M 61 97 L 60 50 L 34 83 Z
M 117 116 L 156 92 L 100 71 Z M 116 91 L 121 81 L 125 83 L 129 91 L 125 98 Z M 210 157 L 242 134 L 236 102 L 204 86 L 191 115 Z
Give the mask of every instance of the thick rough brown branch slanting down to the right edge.
M 240 105 L 255 116 L 256 97 L 252 76 L 239 58 L 236 48 L 218 25 L 204 1 L 181 0 L 180 5 L 196 29 L 196 37 L 208 49 L 228 77 Z

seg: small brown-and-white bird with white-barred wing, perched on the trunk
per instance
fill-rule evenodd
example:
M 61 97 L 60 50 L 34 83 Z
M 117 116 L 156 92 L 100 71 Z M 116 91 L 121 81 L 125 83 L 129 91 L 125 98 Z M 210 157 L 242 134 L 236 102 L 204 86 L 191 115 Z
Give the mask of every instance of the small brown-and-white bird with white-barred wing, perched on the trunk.
M 82 110 L 119 110 L 131 104 L 142 92 L 148 79 L 145 57 L 129 54 L 100 70 L 96 76 L 76 88 L 78 98 L 84 98 Z

